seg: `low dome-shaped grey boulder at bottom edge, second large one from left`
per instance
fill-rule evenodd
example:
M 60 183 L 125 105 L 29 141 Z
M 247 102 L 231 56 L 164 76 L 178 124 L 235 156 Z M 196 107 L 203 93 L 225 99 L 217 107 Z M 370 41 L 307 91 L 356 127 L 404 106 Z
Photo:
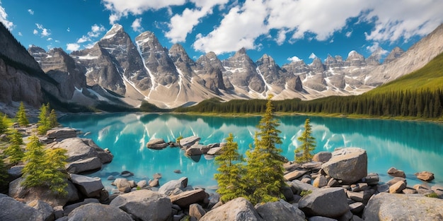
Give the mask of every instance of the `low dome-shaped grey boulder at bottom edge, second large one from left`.
M 99 203 L 88 203 L 72 210 L 68 216 L 69 221 L 77 220 L 119 220 L 132 221 L 129 214 L 119 210 L 112 205 L 103 205 Z

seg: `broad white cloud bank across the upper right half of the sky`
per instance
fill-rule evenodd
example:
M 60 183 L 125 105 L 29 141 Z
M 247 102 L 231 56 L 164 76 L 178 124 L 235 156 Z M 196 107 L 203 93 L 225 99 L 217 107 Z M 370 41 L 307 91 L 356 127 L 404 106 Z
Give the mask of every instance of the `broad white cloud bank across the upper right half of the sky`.
M 196 6 L 205 4 L 202 0 L 193 2 Z M 394 0 L 246 0 L 232 4 L 230 1 L 226 8 L 229 12 L 214 30 L 197 35 L 194 49 L 217 54 L 241 47 L 253 49 L 257 47 L 255 40 L 268 35 L 270 30 L 276 31 L 273 39 L 277 44 L 306 37 L 327 41 L 347 28 L 350 18 L 375 25 L 366 34 L 367 40 L 407 41 L 416 35 L 427 35 L 443 22 L 443 1 L 437 0 L 402 1 L 401 4 Z M 184 41 L 192 28 L 205 18 L 203 12 L 202 8 L 195 8 L 173 16 L 168 38 L 172 42 Z M 344 33 L 350 37 L 353 31 Z

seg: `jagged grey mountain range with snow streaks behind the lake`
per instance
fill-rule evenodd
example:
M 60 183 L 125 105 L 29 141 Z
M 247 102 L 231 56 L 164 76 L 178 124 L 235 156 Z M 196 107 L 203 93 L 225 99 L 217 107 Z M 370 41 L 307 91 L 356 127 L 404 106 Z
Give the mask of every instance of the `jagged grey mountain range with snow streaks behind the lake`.
M 88 107 L 97 103 L 138 107 L 147 101 L 161 108 L 222 100 L 358 95 L 425 66 L 443 52 L 443 25 L 410 47 L 396 47 L 380 63 L 381 49 L 364 58 L 331 56 L 311 64 L 278 66 L 263 54 L 253 61 L 245 49 L 225 60 L 213 52 L 191 59 L 180 44 L 163 47 L 153 32 L 133 41 L 122 25 L 113 25 L 90 49 L 67 54 L 31 46 L 28 52 L 0 27 L 0 102 L 24 100 L 36 105 L 58 100 Z

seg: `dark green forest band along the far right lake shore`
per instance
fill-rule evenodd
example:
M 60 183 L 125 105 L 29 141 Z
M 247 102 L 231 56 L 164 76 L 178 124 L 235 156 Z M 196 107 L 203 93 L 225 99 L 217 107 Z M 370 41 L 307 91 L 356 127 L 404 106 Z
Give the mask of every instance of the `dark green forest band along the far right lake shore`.
M 231 100 L 216 98 L 192 107 L 178 108 L 176 112 L 205 113 L 260 113 L 265 111 L 265 100 Z M 443 90 L 396 90 L 384 93 L 367 92 L 358 96 L 332 96 L 316 100 L 300 99 L 275 101 L 276 112 L 364 114 L 374 117 L 442 117 Z

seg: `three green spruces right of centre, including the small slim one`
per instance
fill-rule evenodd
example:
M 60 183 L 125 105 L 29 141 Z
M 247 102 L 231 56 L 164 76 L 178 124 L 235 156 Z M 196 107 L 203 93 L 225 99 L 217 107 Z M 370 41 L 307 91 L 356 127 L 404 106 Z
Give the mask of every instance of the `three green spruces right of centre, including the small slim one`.
M 274 107 L 270 99 L 271 96 L 267 99 L 265 113 L 257 126 L 254 145 L 246 152 L 246 160 L 238 153 L 238 144 L 234 142 L 232 133 L 226 138 L 222 154 L 215 157 L 219 174 L 214 177 L 219 184 L 217 192 L 220 193 L 222 202 L 244 197 L 255 205 L 283 198 L 281 189 L 286 185 L 284 157 L 280 155 L 282 149 L 277 146 L 282 144 L 280 131 L 277 129 L 280 122 L 273 114 Z M 296 157 L 299 158 L 297 161 L 311 161 L 315 142 L 311 136 L 309 119 L 306 119 L 305 131 L 299 140 L 302 144 L 296 153 L 300 152 L 302 156 Z

